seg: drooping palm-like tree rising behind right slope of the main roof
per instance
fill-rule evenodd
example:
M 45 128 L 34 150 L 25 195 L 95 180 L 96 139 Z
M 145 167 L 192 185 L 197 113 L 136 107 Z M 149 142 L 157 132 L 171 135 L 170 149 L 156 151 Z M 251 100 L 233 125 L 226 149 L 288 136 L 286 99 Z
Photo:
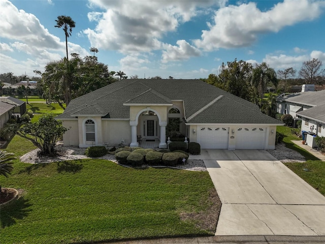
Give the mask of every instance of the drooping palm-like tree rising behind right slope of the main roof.
M 278 84 L 276 73 L 274 69 L 263 62 L 253 68 L 251 84 L 257 89 L 259 99 L 263 99 L 265 88 L 268 83 L 273 84 L 275 87 Z

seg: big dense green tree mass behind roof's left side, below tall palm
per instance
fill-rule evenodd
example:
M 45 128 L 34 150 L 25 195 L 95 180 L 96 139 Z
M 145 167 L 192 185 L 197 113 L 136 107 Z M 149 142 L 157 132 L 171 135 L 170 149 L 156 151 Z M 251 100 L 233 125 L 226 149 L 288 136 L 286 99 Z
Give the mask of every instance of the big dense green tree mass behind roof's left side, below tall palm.
M 76 53 L 71 55 L 69 61 L 61 59 L 48 63 L 43 73 L 34 71 L 42 76 L 39 84 L 43 97 L 49 102 L 57 102 L 63 109 L 63 103 L 68 106 L 72 99 L 116 81 L 113 77 L 115 72 L 110 72 L 107 65 L 98 63 L 96 57 L 81 58 Z

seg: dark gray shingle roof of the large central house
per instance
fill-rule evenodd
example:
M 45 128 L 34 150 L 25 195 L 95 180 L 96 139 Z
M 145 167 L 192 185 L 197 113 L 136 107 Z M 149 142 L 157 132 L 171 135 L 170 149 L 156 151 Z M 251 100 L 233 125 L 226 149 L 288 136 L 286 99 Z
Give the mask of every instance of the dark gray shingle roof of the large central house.
M 169 105 L 173 100 L 183 101 L 187 123 L 282 125 L 263 114 L 258 106 L 204 81 L 192 79 L 122 79 L 72 100 L 57 118 L 82 114 L 129 118 L 129 106 L 126 105 Z

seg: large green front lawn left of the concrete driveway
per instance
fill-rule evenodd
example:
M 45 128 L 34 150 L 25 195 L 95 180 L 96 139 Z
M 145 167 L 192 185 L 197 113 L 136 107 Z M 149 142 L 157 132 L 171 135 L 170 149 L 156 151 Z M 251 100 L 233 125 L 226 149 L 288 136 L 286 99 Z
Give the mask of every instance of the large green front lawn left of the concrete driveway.
M 35 148 L 15 136 L 7 151 L 19 158 Z M 1 210 L 0 243 L 84 243 L 158 236 L 213 235 L 197 220 L 209 215 L 214 186 L 208 172 L 124 168 L 107 160 L 48 164 L 15 160 L 4 187 L 23 197 Z

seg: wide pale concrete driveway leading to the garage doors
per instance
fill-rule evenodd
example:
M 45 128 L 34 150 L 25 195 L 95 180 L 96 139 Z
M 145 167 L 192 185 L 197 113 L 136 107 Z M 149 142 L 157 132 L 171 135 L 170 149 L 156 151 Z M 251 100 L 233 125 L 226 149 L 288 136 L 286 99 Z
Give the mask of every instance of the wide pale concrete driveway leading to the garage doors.
M 203 149 L 222 202 L 216 235 L 325 235 L 325 197 L 265 150 Z

